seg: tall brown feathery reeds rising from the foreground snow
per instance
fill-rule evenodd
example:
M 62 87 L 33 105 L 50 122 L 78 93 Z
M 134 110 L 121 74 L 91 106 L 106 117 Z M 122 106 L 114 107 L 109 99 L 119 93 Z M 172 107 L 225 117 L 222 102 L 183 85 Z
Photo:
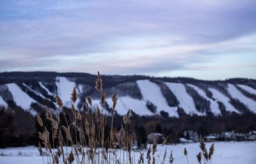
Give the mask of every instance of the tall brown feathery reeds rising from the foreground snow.
M 114 93 L 111 97 L 113 101 L 111 110 L 111 128 L 106 131 L 107 117 L 104 114 L 105 105 L 105 93 L 102 92 L 102 78 L 98 72 L 95 89 L 99 92 L 100 107 L 92 108 L 92 98 L 90 96 L 86 97 L 84 105 L 88 111 L 89 117 L 83 119 L 80 112 L 76 110 L 77 101 L 77 90 L 74 87 L 71 94 L 71 109 L 74 116 L 74 123 L 68 123 L 65 110 L 63 108 L 63 102 L 61 98 L 56 96 L 56 103 L 61 108 L 63 116 L 65 119 L 60 118 L 60 114 L 56 114 L 56 119 L 51 114 L 49 109 L 46 109 L 45 117 L 51 122 L 51 128 L 47 129 L 43 123 L 41 117 L 37 115 L 38 124 L 40 124 L 42 131 L 38 131 L 40 142 L 38 143 L 38 151 L 41 156 L 46 156 L 46 160 L 42 158 L 44 163 L 92 163 L 92 164 L 110 164 L 110 163 L 123 163 L 123 164 L 135 164 L 135 163 L 173 163 L 174 158 L 172 152 L 170 153 L 169 160 L 166 160 L 167 151 L 164 150 L 163 158 L 160 159 L 160 154 L 166 144 L 168 137 L 164 138 L 163 144 L 161 145 L 161 151 L 159 154 L 156 152 L 157 143 L 154 140 L 152 144 L 147 149 L 147 154 L 141 153 L 138 157 L 136 155 L 138 152 L 132 147 L 136 144 L 136 135 L 133 131 L 131 132 L 131 109 L 125 114 L 123 122 L 121 124 L 120 131 L 114 133 L 113 131 L 113 116 L 117 104 L 117 93 Z M 94 113 L 92 111 L 95 111 Z M 84 121 L 83 121 L 84 120 Z M 72 133 L 70 127 L 75 127 L 75 133 Z M 51 131 L 51 136 L 50 132 Z M 106 133 L 108 132 L 108 133 Z M 106 134 L 109 134 L 106 136 Z M 117 137 L 117 138 L 116 138 Z M 43 152 L 41 144 L 45 147 L 45 152 Z M 198 163 L 202 162 L 202 155 L 204 156 L 204 163 L 211 163 L 211 156 L 214 151 L 214 144 L 212 144 L 209 153 L 205 149 L 204 139 L 201 137 L 200 148 L 202 153 L 198 153 L 196 156 L 198 158 Z M 187 151 L 184 150 L 187 161 Z M 189 161 L 188 161 L 189 163 Z

